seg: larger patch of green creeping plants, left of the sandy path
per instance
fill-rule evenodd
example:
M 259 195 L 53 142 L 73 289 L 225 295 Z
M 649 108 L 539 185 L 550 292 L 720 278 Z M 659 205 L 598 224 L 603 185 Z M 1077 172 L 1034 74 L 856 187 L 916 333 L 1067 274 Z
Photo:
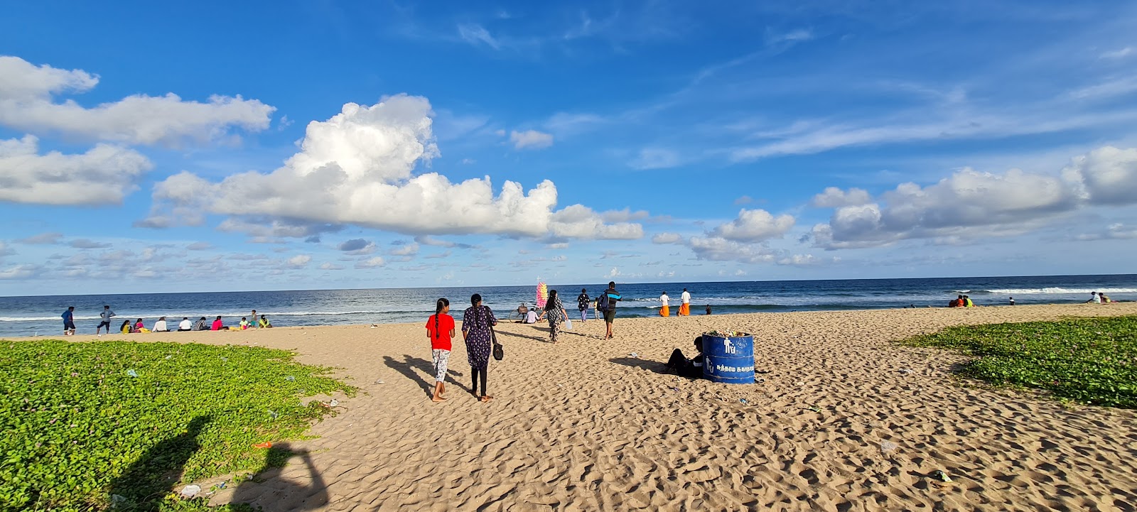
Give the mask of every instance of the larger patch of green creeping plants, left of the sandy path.
M 330 412 L 302 405 L 302 396 L 355 394 L 327 377 L 331 368 L 294 355 L 0 342 L 0 510 L 206 510 L 204 500 L 173 493 L 200 478 L 264 469 L 269 450 L 254 445 L 301 438 Z

